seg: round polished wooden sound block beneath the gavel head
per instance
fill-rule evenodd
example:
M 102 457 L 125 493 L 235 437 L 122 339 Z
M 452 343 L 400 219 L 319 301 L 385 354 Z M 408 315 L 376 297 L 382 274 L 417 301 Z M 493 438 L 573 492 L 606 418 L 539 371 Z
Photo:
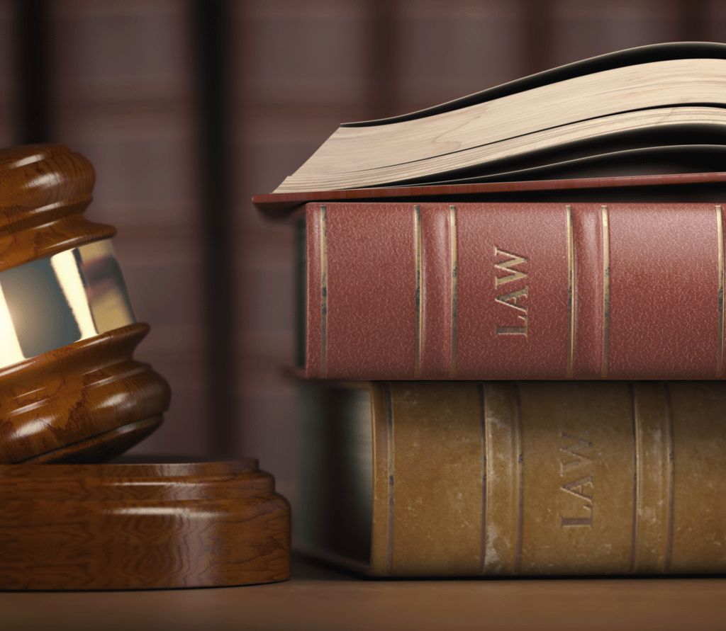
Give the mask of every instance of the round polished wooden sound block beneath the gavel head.
M 0 589 L 290 577 L 290 506 L 257 461 L 0 466 Z

